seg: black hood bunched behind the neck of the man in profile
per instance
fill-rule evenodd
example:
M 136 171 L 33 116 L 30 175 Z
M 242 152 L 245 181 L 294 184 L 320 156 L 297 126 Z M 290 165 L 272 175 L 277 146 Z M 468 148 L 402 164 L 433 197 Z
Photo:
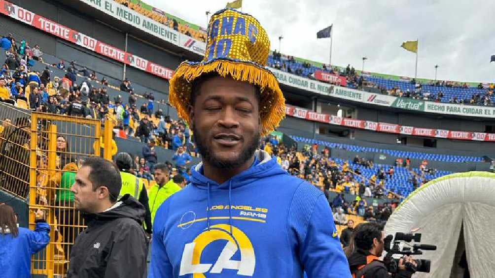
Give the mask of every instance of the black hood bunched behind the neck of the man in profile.
M 145 219 L 145 213 L 144 205 L 131 195 L 126 194 L 110 209 L 98 213 L 84 213 L 83 217 L 88 226 L 94 221 L 110 221 L 116 218 L 131 218 L 141 225 Z

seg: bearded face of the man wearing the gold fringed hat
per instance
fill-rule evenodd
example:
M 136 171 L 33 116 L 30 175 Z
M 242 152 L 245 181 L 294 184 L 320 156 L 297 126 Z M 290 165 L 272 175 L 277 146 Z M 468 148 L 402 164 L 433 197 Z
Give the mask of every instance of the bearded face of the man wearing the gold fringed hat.
M 253 156 L 260 137 L 256 93 L 253 85 L 228 78 L 201 84 L 190 119 L 199 153 L 214 167 L 234 169 Z

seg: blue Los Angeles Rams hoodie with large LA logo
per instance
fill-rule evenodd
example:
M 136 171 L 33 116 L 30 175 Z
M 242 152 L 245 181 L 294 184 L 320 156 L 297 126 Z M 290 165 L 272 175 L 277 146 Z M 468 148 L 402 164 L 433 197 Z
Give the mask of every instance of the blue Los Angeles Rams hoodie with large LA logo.
M 325 195 L 266 152 L 255 156 L 223 184 L 198 164 L 161 204 L 148 278 L 351 277 Z

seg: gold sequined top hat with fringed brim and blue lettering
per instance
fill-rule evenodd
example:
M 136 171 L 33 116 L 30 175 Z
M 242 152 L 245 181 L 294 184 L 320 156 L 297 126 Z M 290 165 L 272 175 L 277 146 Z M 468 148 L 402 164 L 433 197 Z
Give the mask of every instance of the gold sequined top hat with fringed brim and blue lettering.
M 182 62 L 170 79 L 169 102 L 189 122 L 188 106 L 193 81 L 215 72 L 260 88 L 261 135 L 278 126 L 285 116 L 285 99 L 275 75 L 265 68 L 270 40 L 249 14 L 223 9 L 211 16 L 206 51 L 201 62 Z

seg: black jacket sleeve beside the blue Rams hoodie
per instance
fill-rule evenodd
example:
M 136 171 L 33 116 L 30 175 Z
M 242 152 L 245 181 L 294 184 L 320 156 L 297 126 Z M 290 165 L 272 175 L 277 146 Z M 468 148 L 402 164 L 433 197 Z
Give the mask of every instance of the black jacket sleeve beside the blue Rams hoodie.
M 141 226 L 125 225 L 116 235 L 104 278 L 145 277 L 148 248 Z

